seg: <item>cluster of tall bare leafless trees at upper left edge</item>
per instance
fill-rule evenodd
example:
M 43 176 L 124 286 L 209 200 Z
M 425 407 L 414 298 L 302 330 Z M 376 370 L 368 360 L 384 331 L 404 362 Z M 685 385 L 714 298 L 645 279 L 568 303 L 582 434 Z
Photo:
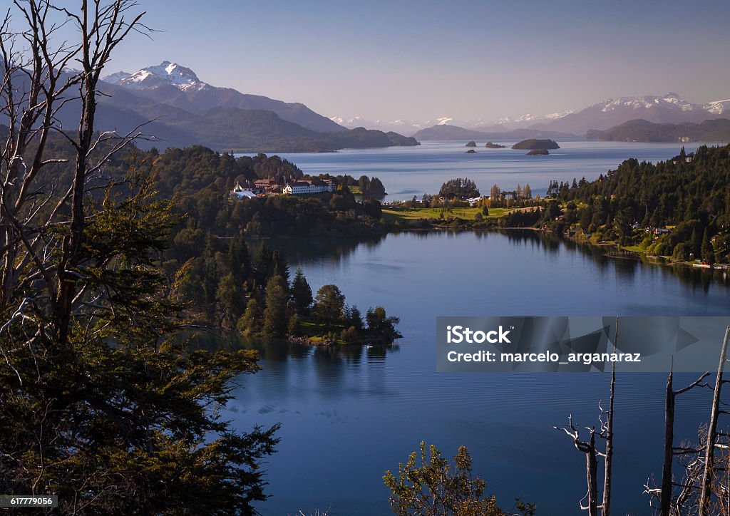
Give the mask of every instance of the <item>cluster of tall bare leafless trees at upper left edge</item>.
M 49 307 L 42 312 L 50 317 L 38 321 L 31 339 L 45 336 L 58 344 L 66 342 L 70 317 L 82 299 L 85 278 L 78 261 L 89 185 L 111 155 L 139 136 L 137 131 L 95 133 L 101 71 L 131 31 L 147 30 L 144 13 L 128 14 L 137 7 L 134 0 L 80 4 L 72 12 L 49 0 L 13 0 L 0 24 L 0 113 L 8 125 L 0 150 L 0 311 L 17 323 L 28 313 L 19 308 L 29 301 Z M 13 17 L 22 30 L 14 30 Z M 69 28 L 79 41 L 57 41 Z M 80 70 L 70 71 L 74 66 Z M 58 115 L 77 104 L 79 125 L 69 131 Z M 45 166 L 69 161 L 48 155 L 53 134 L 75 156 L 69 184 L 61 191 L 58 182 L 37 181 Z

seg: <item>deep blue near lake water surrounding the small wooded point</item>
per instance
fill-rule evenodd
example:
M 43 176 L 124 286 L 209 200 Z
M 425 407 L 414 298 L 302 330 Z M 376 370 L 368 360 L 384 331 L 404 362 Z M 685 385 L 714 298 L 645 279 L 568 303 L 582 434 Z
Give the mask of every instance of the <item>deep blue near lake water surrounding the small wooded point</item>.
M 226 416 L 240 428 L 283 423 L 279 451 L 266 464 L 273 497 L 259 506 L 265 515 L 388 514 L 381 477 L 421 440 L 452 456 L 465 444 L 506 508 L 520 497 L 537 501 L 539 514 L 579 514 L 585 458 L 552 425 L 569 414 L 595 424 L 609 377 L 437 373 L 436 317 L 729 314 L 727 275 L 606 258 L 531 231 L 280 247 L 313 290 L 336 283 L 363 311 L 383 304 L 399 315 L 404 338 L 392 350 L 263 347 L 264 371 L 242 380 Z M 616 514 L 650 514 L 642 485 L 661 474 L 665 381 L 618 375 Z M 680 399 L 677 442 L 696 435 L 709 406 L 707 392 Z

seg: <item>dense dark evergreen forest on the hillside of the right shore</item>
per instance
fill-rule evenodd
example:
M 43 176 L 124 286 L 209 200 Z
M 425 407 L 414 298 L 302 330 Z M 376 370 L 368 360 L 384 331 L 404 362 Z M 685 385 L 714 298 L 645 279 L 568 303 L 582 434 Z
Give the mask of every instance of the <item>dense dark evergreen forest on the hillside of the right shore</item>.
M 691 162 L 629 159 L 592 182 L 555 182 L 549 196 L 556 204 L 542 223 L 553 228 L 575 226 L 677 260 L 728 261 L 730 146 L 699 147 Z

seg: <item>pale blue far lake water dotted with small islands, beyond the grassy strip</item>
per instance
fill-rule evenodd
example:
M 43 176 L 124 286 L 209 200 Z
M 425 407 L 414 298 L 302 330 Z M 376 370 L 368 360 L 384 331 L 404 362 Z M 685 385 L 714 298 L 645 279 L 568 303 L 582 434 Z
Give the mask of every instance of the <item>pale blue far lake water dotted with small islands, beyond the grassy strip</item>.
M 501 143 L 510 147 L 518 140 Z M 379 177 L 388 199 L 410 199 L 437 193 L 446 180 L 469 177 L 482 193 L 493 184 L 514 190 L 529 183 L 533 195 L 545 193 L 550 180 L 593 180 L 628 158 L 662 161 L 679 153 L 682 144 L 558 140 L 560 149 L 548 156 L 528 156 L 525 150 L 487 149 L 477 142 L 476 154 L 466 154 L 466 141 L 422 142 L 418 147 L 345 149 L 337 153 L 279 154 L 307 174 L 350 174 Z M 700 144 L 684 144 L 693 152 Z M 717 144 L 710 144 L 717 145 Z

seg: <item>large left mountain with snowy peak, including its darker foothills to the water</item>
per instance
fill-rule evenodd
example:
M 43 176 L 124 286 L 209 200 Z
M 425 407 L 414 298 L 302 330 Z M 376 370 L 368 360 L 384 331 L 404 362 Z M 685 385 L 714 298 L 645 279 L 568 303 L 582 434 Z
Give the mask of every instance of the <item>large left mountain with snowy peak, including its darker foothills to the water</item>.
M 17 80 L 22 82 L 23 74 Z M 169 61 L 133 74 L 108 75 L 99 91 L 96 128 L 126 134 L 139 127 L 149 137 L 138 142 L 143 148 L 199 144 L 221 151 L 272 153 L 418 145 L 401 134 L 350 130 L 304 104 L 217 88 Z M 69 101 L 58 113 L 58 123 L 74 128 L 79 110 L 78 101 Z M 0 118 L 0 123 L 7 120 Z

